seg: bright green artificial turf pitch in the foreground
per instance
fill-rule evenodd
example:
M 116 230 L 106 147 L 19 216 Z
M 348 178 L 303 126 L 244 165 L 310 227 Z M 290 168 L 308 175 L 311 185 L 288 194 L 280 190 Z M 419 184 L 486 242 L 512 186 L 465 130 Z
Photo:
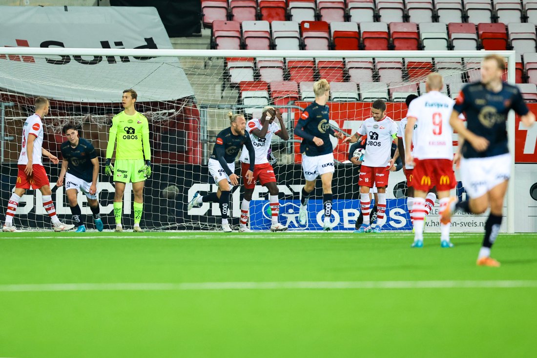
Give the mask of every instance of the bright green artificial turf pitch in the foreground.
M 537 235 L 0 233 L 0 357 L 526 357 Z M 14 239 L 17 238 L 17 239 Z M 84 239 L 85 238 L 85 239 Z M 19 284 L 517 281 L 533 287 L 7 291 Z M 494 282 L 492 282 L 494 284 Z M 517 284 L 515 284 L 517 285 Z M 42 288 L 42 287 L 41 287 Z

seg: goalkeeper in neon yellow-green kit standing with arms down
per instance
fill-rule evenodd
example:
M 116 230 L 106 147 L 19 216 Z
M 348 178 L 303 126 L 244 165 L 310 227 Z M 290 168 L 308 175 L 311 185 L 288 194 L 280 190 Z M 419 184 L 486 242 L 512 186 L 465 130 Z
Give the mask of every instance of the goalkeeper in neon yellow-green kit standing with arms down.
M 113 176 L 115 183 L 114 217 L 115 231 L 123 231 L 121 212 L 126 183 L 133 183 L 134 228 L 143 232 L 140 220 L 143 211 L 143 185 L 151 176 L 151 148 L 149 147 L 149 123 L 143 114 L 136 112 L 134 105 L 137 94 L 133 89 L 123 91 L 121 103 L 124 111 L 112 118 L 112 127 L 106 148 L 105 174 Z M 115 168 L 112 155 L 115 148 Z M 145 160 L 144 160 L 145 159 Z

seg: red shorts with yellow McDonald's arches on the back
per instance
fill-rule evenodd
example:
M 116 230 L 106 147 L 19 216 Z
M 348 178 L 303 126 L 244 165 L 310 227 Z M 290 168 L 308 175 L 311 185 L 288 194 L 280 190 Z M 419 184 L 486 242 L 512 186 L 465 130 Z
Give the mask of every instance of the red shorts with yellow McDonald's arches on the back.
M 413 187 L 429 191 L 436 186 L 437 191 L 447 191 L 456 187 L 453 161 L 449 159 L 415 159 Z

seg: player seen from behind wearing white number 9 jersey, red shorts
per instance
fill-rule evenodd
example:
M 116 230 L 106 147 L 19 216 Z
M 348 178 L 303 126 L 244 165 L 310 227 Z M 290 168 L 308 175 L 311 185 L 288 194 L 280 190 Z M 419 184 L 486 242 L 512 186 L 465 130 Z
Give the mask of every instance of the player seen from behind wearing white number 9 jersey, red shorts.
M 406 153 L 406 162 L 414 164 L 414 205 L 413 218 L 415 236 L 412 247 L 423 247 L 423 228 L 425 217 L 425 196 L 436 186 L 440 199 L 440 215 L 447 209 L 449 190 L 455 188 L 455 173 L 453 171 L 453 129 L 449 125 L 449 117 L 454 101 L 441 94 L 444 78 L 438 73 L 427 76 L 425 88 L 427 93 L 410 103 L 407 112 L 407 128 L 405 130 L 405 145 L 410 148 L 414 135 L 413 151 Z M 452 247 L 449 241 L 450 221 L 441 220 L 440 245 Z

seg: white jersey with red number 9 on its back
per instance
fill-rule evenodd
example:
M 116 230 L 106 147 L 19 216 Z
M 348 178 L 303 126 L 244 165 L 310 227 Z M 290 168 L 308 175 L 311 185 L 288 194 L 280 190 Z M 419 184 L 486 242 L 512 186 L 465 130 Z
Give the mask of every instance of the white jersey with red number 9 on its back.
M 453 128 L 449 117 L 455 101 L 438 91 L 414 99 L 407 118 L 416 118 L 413 156 L 417 159 L 453 159 Z

